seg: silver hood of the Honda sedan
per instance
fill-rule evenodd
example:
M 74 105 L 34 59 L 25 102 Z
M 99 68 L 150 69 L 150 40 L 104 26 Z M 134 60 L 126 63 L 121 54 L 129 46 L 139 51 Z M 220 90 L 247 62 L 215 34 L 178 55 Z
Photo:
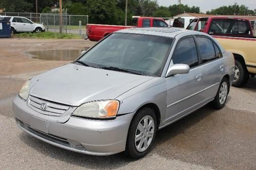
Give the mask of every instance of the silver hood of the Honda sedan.
M 115 99 L 151 79 L 153 77 L 68 64 L 31 80 L 29 94 L 79 106 L 89 101 Z

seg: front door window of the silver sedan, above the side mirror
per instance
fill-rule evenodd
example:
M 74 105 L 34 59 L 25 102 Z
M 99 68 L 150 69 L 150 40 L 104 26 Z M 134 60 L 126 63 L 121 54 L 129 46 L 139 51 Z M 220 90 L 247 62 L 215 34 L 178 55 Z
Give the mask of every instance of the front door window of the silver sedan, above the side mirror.
M 187 64 L 190 68 L 198 65 L 197 48 L 193 37 L 180 41 L 172 60 L 174 64 Z

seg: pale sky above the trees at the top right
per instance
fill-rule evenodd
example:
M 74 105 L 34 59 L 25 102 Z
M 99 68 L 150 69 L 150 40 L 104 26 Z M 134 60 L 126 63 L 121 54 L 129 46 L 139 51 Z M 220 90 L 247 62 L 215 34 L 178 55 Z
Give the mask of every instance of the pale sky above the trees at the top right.
M 178 4 L 178 0 L 157 0 L 159 6 L 170 6 L 174 4 Z M 237 2 L 238 5 L 244 4 L 249 7 L 249 9 L 256 9 L 256 0 L 181 0 L 181 3 L 188 6 L 199 6 L 201 12 L 210 11 L 211 9 L 215 9 L 221 7 L 223 5 L 233 5 L 234 2 Z

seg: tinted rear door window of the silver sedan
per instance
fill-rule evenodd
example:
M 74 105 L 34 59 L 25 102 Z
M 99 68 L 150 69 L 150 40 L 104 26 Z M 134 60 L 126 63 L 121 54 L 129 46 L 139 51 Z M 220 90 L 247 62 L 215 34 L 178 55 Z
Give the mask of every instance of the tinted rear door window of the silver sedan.
M 217 58 L 214 43 L 210 39 L 206 37 L 197 37 L 197 42 L 202 57 L 202 63 L 207 63 Z

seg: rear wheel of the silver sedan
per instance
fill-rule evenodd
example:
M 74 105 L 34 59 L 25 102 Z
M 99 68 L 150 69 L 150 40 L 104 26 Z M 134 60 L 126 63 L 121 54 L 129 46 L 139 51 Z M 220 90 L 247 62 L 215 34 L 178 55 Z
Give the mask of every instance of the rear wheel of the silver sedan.
M 229 82 L 227 78 L 223 78 L 214 101 L 211 102 L 211 106 L 215 109 L 222 109 L 227 101 L 227 95 L 229 91 Z

